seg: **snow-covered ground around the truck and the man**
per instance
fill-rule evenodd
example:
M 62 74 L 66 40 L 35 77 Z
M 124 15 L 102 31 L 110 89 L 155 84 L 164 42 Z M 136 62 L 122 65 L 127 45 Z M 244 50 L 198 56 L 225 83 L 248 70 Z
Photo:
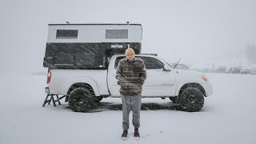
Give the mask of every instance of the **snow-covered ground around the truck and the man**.
M 133 138 L 131 122 L 130 138 L 122 141 L 121 110 L 74 113 L 64 99 L 62 106 L 42 107 L 45 75 L 1 74 L 0 143 L 256 143 L 256 75 L 207 75 L 214 94 L 205 98 L 202 111 L 142 110 L 140 141 Z M 119 98 L 102 102 L 121 105 Z M 167 98 L 142 98 L 142 102 L 171 105 Z

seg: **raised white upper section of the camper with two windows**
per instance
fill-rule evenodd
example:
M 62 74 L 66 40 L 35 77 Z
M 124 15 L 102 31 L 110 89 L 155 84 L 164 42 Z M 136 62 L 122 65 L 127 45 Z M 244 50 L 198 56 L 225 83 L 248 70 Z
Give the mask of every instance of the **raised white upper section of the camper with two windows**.
M 48 43 L 142 42 L 141 24 L 49 24 Z

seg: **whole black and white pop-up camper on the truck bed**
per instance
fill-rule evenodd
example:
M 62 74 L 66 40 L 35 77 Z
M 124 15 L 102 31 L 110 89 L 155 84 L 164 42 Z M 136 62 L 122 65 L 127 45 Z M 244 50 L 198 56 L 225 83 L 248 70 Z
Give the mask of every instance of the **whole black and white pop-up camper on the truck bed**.
M 141 24 L 49 24 L 43 66 L 106 70 L 110 57 L 129 47 L 141 54 Z

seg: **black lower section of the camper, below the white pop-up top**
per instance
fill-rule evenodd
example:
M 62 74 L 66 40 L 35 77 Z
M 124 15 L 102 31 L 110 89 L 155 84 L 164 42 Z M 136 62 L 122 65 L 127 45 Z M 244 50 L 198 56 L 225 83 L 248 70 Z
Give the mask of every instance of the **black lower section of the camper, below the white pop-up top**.
M 138 42 L 102 43 L 47 43 L 44 67 L 51 69 L 106 70 L 109 58 L 114 54 L 125 54 L 128 46 L 135 54 L 141 53 Z

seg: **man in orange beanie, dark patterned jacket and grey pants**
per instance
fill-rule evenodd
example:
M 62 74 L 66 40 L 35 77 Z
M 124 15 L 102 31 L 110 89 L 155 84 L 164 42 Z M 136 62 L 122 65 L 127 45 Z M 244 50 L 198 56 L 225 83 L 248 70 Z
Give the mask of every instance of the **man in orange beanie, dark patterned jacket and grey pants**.
M 142 85 L 146 80 L 146 68 L 141 58 L 134 58 L 134 50 L 126 49 L 126 58 L 118 63 L 116 78 L 121 86 L 122 99 L 122 139 L 127 138 L 129 114 L 133 112 L 134 138 L 139 138 L 140 110 L 142 106 Z

